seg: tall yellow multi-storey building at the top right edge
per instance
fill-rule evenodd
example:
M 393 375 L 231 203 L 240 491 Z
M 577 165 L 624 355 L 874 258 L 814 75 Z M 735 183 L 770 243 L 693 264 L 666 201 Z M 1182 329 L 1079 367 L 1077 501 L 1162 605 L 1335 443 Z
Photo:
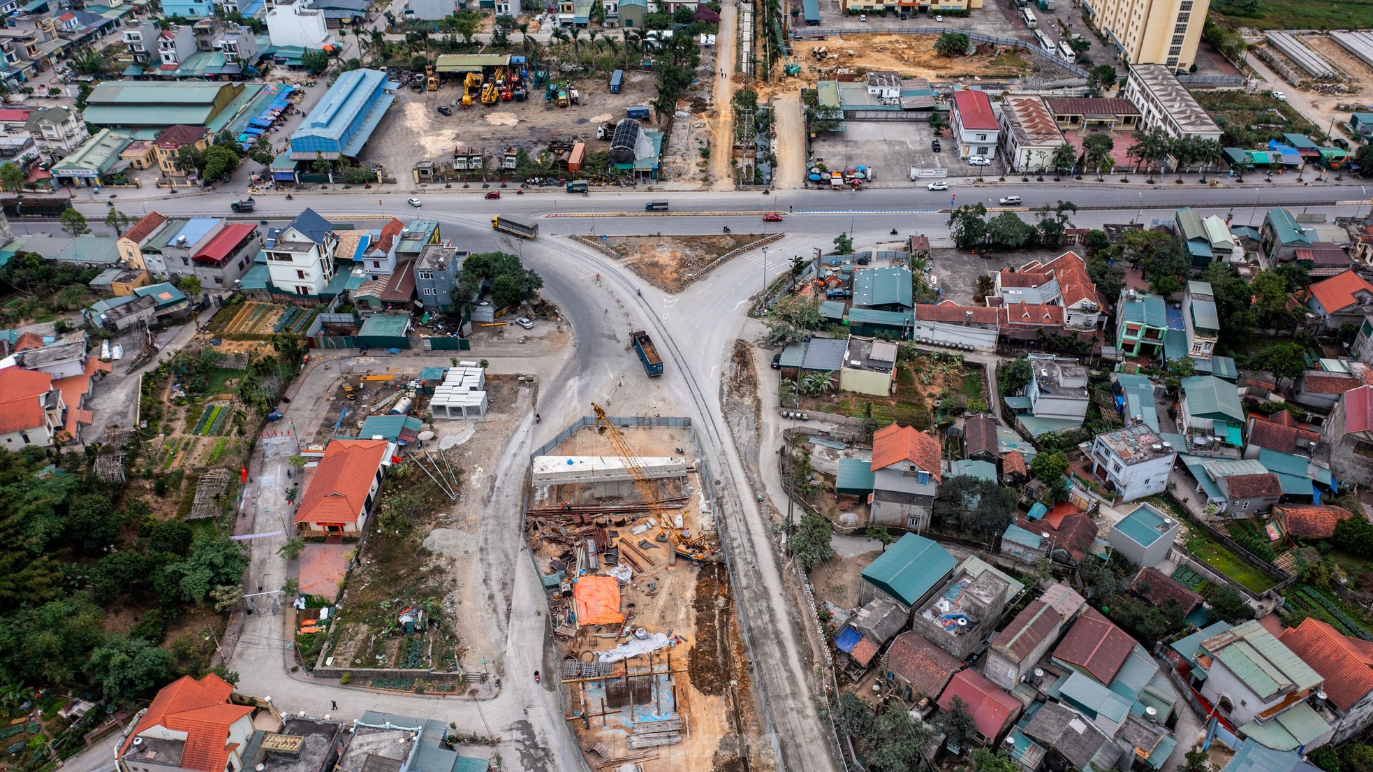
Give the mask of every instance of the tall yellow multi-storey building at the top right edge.
M 1124 51 L 1130 65 L 1186 70 L 1197 56 L 1211 0 L 1083 0 L 1087 23 Z

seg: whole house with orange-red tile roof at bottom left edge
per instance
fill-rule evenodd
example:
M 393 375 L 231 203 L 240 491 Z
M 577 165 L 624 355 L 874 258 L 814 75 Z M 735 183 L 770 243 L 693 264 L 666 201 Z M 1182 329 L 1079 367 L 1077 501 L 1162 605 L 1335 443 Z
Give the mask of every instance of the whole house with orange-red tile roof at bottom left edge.
M 253 736 L 253 705 L 229 699 L 233 687 L 210 673 L 162 687 L 115 761 L 121 772 L 242 772 Z

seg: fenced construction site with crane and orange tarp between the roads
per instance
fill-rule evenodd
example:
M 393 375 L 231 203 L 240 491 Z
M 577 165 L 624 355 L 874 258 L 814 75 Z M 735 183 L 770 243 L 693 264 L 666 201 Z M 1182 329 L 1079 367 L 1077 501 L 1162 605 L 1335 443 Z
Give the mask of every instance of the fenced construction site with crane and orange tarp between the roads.
M 735 768 L 748 672 L 692 430 L 592 407 L 533 459 L 524 527 L 568 721 L 600 768 Z

